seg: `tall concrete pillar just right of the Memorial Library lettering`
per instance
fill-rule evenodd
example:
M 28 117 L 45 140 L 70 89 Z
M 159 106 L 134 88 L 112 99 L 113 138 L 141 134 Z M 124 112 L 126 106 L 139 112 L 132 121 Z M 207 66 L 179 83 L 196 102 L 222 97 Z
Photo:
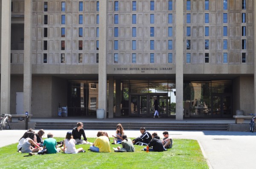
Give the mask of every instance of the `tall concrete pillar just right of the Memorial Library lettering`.
M 176 0 L 176 120 L 183 120 L 183 0 Z

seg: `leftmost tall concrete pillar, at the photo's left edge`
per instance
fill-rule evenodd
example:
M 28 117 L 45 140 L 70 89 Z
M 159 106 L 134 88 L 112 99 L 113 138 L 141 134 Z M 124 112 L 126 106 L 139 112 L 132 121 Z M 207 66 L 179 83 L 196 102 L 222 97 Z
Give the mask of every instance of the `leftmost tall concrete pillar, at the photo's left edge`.
M 1 113 L 10 112 L 11 0 L 2 0 L 1 23 Z

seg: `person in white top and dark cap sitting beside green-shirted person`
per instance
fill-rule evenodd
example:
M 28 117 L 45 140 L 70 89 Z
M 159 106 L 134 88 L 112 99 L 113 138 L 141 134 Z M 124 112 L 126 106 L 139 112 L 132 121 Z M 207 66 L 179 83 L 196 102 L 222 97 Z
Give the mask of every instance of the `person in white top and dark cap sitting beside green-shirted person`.
M 76 141 L 73 139 L 72 132 L 67 132 L 66 139 L 64 141 L 61 150 L 66 154 L 77 154 L 79 152 L 85 152 L 83 148 L 76 149 Z

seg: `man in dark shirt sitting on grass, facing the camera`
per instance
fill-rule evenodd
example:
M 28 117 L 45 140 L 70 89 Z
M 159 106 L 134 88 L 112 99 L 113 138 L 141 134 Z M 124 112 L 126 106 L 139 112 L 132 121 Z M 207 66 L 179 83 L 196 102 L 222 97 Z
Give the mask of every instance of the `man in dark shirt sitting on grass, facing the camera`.
M 73 135 L 73 138 L 75 139 L 75 144 L 92 144 L 90 142 L 87 141 L 87 138 L 85 136 L 85 133 L 84 133 L 84 124 L 81 123 L 81 122 L 78 122 L 76 124 L 77 127 L 73 128 L 72 130 L 72 135 Z M 84 140 L 81 139 L 81 136 L 83 135 L 84 137 Z

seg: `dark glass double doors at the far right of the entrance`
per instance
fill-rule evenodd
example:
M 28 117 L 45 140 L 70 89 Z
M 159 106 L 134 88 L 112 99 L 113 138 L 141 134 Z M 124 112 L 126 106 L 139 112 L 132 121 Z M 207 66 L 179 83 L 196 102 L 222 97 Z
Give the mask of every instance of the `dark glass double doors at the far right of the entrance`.
M 212 95 L 212 117 L 232 116 L 232 95 Z

